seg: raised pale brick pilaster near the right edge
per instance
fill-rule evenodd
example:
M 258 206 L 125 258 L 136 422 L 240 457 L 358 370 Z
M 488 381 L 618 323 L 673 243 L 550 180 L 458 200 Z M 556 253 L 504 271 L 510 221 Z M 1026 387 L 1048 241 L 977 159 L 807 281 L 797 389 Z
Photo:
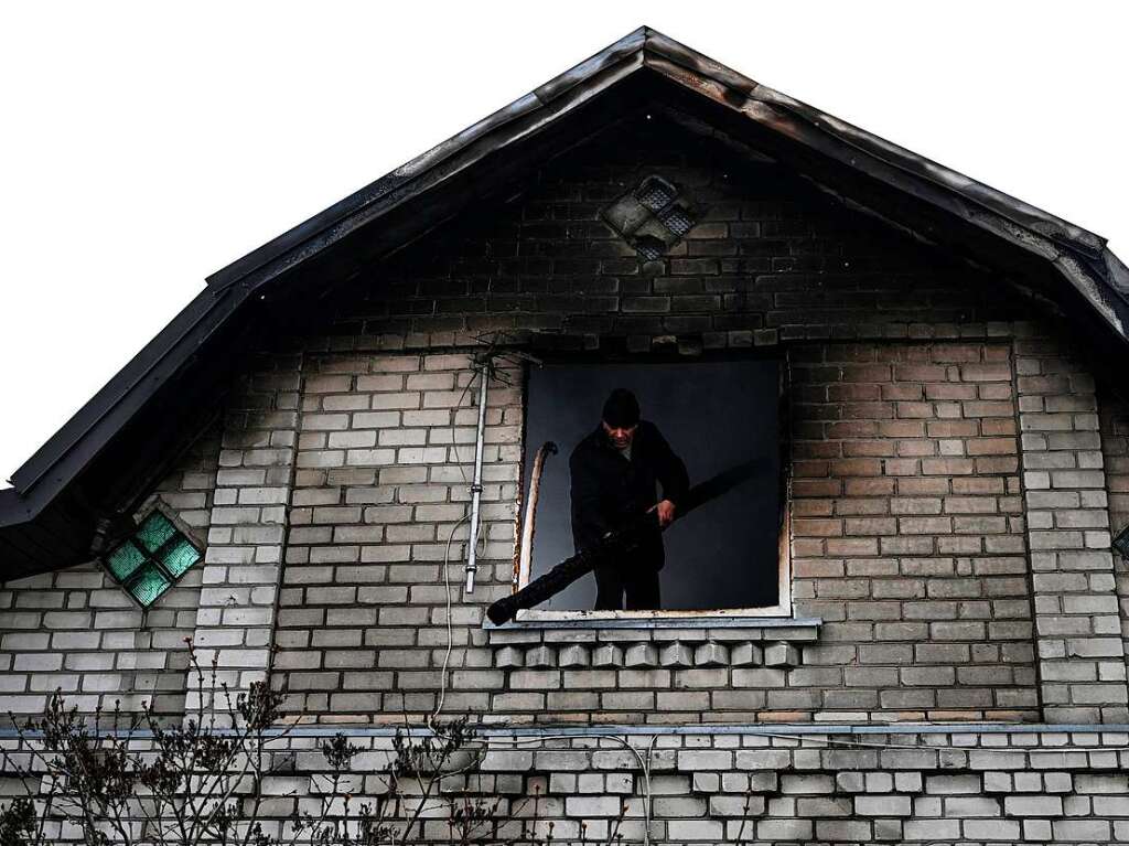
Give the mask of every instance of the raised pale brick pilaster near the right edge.
M 1058 339 L 1016 340 L 1044 717 L 1129 722 L 1094 380 Z

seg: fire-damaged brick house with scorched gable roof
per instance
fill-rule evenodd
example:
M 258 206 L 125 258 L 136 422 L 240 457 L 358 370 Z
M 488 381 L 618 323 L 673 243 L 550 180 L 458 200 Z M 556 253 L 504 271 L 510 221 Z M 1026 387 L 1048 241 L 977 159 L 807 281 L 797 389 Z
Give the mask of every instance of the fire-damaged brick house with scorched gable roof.
M 210 278 L 17 471 L 0 707 L 175 718 L 190 638 L 287 691 L 279 817 L 320 738 L 467 715 L 558 839 L 1129 841 L 1127 290 L 640 29 Z M 738 363 L 779 374 L 774 603 L 490 625 L 539 369 Z

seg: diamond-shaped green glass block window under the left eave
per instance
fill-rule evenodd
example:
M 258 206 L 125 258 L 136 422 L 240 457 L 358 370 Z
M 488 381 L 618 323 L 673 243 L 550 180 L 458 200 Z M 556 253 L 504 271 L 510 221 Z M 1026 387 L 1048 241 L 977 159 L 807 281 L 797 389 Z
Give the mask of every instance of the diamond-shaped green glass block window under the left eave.
M 200 560 L 200 550 L 159 511 L 152 512 L 106 559 L 106 569 L 148 608 Z

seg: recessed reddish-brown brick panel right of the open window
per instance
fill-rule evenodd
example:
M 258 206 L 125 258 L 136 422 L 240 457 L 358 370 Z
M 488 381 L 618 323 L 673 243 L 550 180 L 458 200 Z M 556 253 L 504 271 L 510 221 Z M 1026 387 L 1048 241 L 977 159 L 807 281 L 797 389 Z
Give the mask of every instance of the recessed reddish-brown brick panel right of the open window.
M 793 361 L 794 596 L 826 622 L 806 701 L 1036 714 L 1009 346 L 828 344 Z

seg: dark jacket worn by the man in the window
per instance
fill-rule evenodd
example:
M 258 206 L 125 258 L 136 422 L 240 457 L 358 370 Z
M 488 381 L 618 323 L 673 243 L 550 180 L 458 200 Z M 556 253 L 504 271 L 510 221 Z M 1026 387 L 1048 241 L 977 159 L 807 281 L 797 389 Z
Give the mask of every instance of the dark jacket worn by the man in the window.
M 658 428 L 647 420 L 640 420 L 636 429 L 630 461 L 599 426 L 572 451 L 569 472 L 572 541 L 577 551 L 644 514 L 660 499 L 669 499 L 677 506 L 690 487 L 686 465 L 674 454 Z M 658 496 L 657 485 L 662 485 L 662 496 Z M 663 539 L 656 532 L 632 552 L 629 566 L 659 570 L 663 562 Z

